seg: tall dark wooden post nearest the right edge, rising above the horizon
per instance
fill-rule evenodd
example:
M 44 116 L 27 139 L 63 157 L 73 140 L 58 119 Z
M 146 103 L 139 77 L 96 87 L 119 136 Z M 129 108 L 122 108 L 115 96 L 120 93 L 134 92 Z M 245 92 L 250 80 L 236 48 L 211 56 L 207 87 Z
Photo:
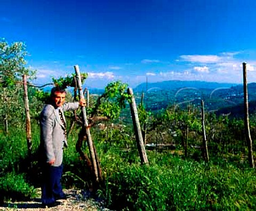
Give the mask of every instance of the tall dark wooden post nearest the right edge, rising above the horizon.
M 243 63 L 243 77 L 244 77 L 244 128 L 245 128 L 245 138 L 246 138 L 246 142 L 247 142 L 247 146 L 248 146 L 249 164 L 252 168 L 254 168 L 252 139 L 251 139 L 250 123 L 249 123 L 249 106 L 248 106 L 246 63 Z

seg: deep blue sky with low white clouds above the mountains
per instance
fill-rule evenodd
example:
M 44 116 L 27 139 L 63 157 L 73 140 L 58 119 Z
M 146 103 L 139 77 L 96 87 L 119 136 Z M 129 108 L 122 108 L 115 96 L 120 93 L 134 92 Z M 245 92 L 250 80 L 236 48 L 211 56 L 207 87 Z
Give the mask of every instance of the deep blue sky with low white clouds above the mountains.
M 121 80 L 256 81 L 256 2 L 2 0 L 0 37 L 27 45 L 36 84 L 74 72 Z

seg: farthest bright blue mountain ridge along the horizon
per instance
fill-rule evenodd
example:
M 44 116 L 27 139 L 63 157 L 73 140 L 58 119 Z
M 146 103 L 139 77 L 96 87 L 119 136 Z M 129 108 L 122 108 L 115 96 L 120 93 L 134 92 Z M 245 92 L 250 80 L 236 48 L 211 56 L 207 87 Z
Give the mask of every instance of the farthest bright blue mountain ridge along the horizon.
M 135 87 L 135 91 L 147 91 L 147 90 L 171 90 L 178 88 L 196 88 L 196 89 L 217 89 L 217 88 L 230 88 L 238 86 L 237 83 L 218 83 L 218 82 L 207 82 L 207 81 L 162 81 L 155 83 L 141 83 Z M 241 85 L 242 86 L 242 85 Z M 242 86 L 243 87 L 243 86 Z

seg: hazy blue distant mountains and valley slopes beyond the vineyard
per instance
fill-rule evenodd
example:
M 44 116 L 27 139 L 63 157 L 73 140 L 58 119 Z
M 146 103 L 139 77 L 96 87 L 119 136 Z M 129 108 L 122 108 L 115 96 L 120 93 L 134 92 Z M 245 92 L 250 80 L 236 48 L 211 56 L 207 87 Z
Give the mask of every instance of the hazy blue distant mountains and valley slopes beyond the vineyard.
M 186 89 L 179 92 L 181 88 Z M 215 89 L 215 90 L 214 90 Z M 206 81 L 162 81 L 156 83 L 141 83 L 134 89 L 134 92 L 151 92 L 153 95 L 147 99 L 148 107 L 151 110 L 159 110 L 166 108 L 170 103 L 187 102 L 190 99 L 196 99 L 193 104 L 198 103 L 198 100 L 203 98 L 205 100 L 205 107 L 208 111 L 215 110 L 217 115 L 230 114 L 230 117 L 243 117 L 243 84 L 236 83 L 217 83 Z M 201 93 L 201 95 L 198 95 Z M 249 113 L 256 111 L 256 83 L 248 84 L 249 96 Z M 198 102 L 197 102 L 198 101 Z M 185 104 L 184 104 L 185 105 Z

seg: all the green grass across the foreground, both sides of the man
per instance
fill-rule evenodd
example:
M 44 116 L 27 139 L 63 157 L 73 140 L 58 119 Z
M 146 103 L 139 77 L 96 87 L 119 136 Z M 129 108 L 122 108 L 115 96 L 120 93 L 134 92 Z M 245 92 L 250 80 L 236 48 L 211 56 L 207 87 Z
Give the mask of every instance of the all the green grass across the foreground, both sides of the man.
M 39 130 L 33 127 L 33 152 L 39 144 Z M 62 184 L 66 188 L 90 187 L 90 176 L 75 150 L 74 131 L 65 149 Z M 183 159 L 178 154 L 148 151 L 148 166 L 140 165 L 136 145 L 124 150 L 93 134 L 100 156 L 105 184 L 98 191 L 116 210 L 256 210 L 256 174 L 238 157 L 211 156 Z M 117 140 L 117 138 L 116 138 Z M 121 140 L 120 140 L 121 141 Z M 131 142 L 129 142 L 131 144 Z M 84 150 L 87 147 L 84 147 Z M 39 169 L 33 161 L 33 177 L 27 171 L 27 143 L 24 130 L 0 133 L 0 201 L 27 200 L 39 185 Z M 227 157 L 227 156 L 226 156 Z M 225 158 L 226 158 L 225 157 Z M 244 161 L 244 163 L 247 163 Z M 239 165 L 238 165 L 239 164 Z M 31 172 L 30 172 L 31 173 Z

